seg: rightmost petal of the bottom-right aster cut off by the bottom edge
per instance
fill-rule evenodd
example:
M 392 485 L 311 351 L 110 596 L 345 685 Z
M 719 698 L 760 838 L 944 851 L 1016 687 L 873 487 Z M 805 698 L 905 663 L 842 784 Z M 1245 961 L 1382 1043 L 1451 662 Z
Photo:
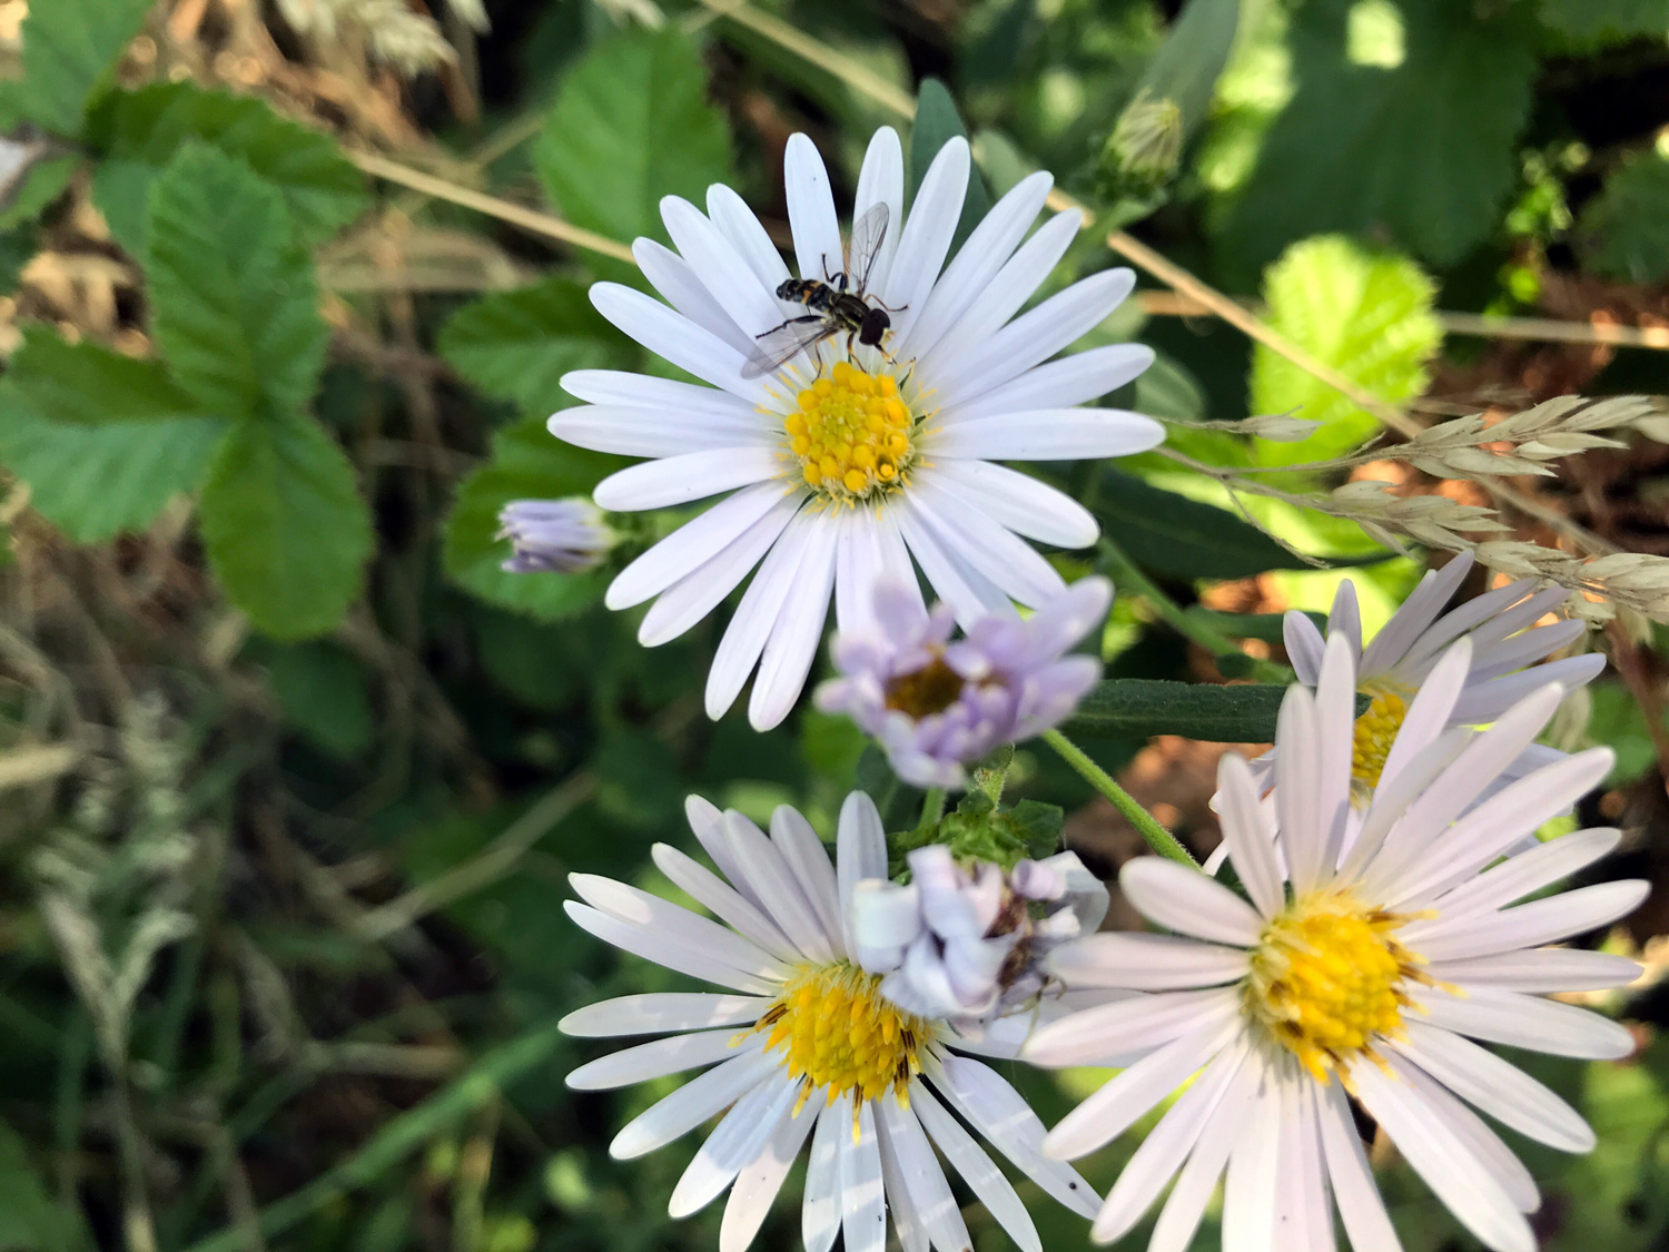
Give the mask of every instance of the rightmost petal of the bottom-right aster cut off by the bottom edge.
M 1535 1252 L 1535 1235 L 1524 1215 L 1410 1087 L 1374 1065 L 1359 1065 L 1354 1078 L 1367 1110 L 1474 1235 L 1497 1252 Z

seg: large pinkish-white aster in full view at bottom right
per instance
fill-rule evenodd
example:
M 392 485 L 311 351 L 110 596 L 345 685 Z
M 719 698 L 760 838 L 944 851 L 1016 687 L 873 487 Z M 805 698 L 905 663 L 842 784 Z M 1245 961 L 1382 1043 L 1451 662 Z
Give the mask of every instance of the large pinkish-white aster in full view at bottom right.
M 1472 1040 L 1629 1055 L 1624 1027 L 1544 997 L 1619 987 L 1639 967 L 1540 945 L 1614 921 L 1647 885 L 1514 905 L 1617 845 L 1617 831 L 1587 830 L 1500 860 L 1594 786 L 1612 755 L 1556 761 L 1477 805 L 1562 688 L 1527 694 L 1449 751 L 1434 693 L 1447 684 L 1452 698 L 1467 651 L 1455 644 L 1422 688 L 1392 748 L 1415 763 L 1379 788 L 1344 848 L 1357 681 L 1347 639 L 1334 636 L 1315 694 L 1293 686 L 1282 704 L 1273 811 L 1245 761 L 1228 755 L 1220 766 L 1223 838 L 1250 903 L 1203 873 L 1142 856 L 1120 886 L 1175 935 L 1103 933 L 1055 952 L 1068 987 L 1152 995 L 1073 1013 L 1028 1042 L 1023 1055 L 1043 1065 L 1148 1050 L 1061 1120 L 1045 1140 L 1050 1155 L 1100 1147 L 1197 1075 L 1130 1159 L 1095 1239 L 1123 1235 L 1175 1179 L 1150 1249 L 1178 1252 L 1227 1169 L 1225 1249 L 1329 1249 L 1332 1205 L 1357 1252 L 1397 1249 L 1350 1093 L 1474 1235 L 1497 1252 L 1534 1252 L 1524 1214 L 1540 1202 L 1535 1184 L 1472 1108 L 1566 1152 L 1587 1152 L 1594 1133 Z

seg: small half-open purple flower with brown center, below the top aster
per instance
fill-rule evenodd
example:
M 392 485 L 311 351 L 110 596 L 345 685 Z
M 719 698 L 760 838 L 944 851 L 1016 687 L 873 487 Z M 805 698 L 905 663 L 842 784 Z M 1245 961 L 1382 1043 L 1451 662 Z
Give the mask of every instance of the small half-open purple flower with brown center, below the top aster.
M 1063 653 L 1112 599 L 1112 583 L 1085 578 L 1026 619 L 991 614 L 951 643 L 948 604 L 923 613 L 915 588 L 881 583 L 873 623 L 836 636 L 841 676 L 818 688 L 818 708 L 873 735 L 906 783 L 961 786 L 968 763 L 1058 724 L 1095 686 L 1100 661 Z

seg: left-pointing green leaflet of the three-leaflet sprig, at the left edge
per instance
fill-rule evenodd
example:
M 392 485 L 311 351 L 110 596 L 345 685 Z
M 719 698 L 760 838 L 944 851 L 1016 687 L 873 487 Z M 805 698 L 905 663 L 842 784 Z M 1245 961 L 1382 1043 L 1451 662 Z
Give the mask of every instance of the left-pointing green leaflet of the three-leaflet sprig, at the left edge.
M 77 543 L 142 529 L 195 491 L 224 429 L 157 362 L 38 327 L 0 386 L 0 462 Z

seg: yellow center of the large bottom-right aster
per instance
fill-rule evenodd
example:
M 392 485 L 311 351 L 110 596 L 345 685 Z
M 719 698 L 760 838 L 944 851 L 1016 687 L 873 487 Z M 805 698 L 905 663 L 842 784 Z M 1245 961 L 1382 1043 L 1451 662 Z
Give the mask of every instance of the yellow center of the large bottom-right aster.
M 1342 891 L 1293 900 L 1252 952 L 1247 1012 L 1320 1082 L 1357 1055 L 1377 1062 L 1374 1038 L 1402 1033 L 1404 983 L 1430 982 L 1392 935 L 1410 920 Z

